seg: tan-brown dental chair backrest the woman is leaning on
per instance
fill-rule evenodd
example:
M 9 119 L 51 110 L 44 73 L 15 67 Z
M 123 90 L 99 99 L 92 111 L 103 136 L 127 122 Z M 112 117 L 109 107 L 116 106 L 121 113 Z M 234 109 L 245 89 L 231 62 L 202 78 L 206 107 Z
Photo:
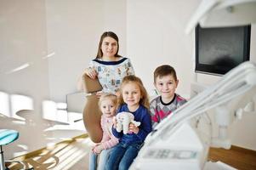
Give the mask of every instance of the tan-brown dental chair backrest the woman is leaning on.
M 98 79 L 91 79 L 87 75 L 84 75 L 82 79 L 82 88 L 86 94 L 85 106 L 82 111 L 83 123 L 89 138 L 94 143 L 99 143 L 103 132 L 100 127 L 101 112 L 98 106 L 99 98 L 97 98 L 96 93 L 101 91 L 102 87 Z

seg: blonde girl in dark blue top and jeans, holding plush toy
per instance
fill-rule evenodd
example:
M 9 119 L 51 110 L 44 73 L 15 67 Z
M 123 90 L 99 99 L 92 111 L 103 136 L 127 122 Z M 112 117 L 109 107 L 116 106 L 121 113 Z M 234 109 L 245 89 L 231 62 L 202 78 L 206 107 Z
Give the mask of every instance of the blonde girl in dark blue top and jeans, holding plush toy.
M 112 133 L 119 139 L 106 163 L 106 170 L 128 169 L 138 155 L 145 137 L 151 133 L 151 115 L 148 111 L 149 99 L 139 77 L 127 76 L 122 80 L 120 107 L 117 114 L 126 111 L 134 115 L 134 121 L 140 122 L 139 127 L 129 124 L 127 134 L 117 132 L 117 120 L 114 119 Z

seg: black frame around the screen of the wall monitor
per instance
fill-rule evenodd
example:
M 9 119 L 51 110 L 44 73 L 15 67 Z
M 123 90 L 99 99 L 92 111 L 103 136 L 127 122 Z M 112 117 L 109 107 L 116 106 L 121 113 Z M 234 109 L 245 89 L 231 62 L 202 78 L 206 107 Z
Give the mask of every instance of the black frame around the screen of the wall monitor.
M 218 29 L 219 27 L 216 28 L 210 28 L 210 29 Z M 223 27 L 221 27 L 223 29 Z M 243 51 L 242 51 L 242 62 L 247 61 L 250 59 L 250 41 L 251 41 L 251 26 L 242 26 L 242 31 L 243 31 Z M 229 66 L 229 65 L 205 65 L 202 63 L 199 63 L 199 58 L 202 56 L 199 56 L 199 41 L 200 41 L 200 34 L 199 31 L 200 29 L 208 29 L 208 28 L 202 28 L 200 25 L 196 26 L 195 30 L 195 36 L 196 36 L 196 67 L 195 71 L 198 73 L 205 73 L 205 74 L 213 74 L 213 75 L 219 75 L 222 76 L 226 72 L 230 71 L 234 66 Z

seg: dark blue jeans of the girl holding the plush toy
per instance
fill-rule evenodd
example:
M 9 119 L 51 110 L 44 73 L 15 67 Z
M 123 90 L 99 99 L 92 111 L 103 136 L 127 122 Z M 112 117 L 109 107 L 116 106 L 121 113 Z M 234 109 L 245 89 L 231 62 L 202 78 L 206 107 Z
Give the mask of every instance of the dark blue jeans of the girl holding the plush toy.
M 108 161 L 106 161 L 105 170 L 124 170 L 128 169 L 142 144 L 117 144 L 110 153 Z

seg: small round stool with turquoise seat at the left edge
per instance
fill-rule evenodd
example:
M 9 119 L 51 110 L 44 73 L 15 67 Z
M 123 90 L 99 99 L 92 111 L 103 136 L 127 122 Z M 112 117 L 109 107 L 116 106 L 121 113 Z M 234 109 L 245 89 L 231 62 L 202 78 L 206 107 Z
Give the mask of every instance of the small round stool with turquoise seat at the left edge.
M 11 129 L 0 129 L 0 170 L 7 170 L 8 167 L 5 167 L 5 162 L 12 162 L 12 161 L 4 161 L 3 159 L 3 148 L 2 146 L 5 144 L 10 144 L 14 142 L 16 139 L 19 138 L 19 133 L 15 130 Z M 17 162 L 25 166 L 21 161 L 13 161 Z

